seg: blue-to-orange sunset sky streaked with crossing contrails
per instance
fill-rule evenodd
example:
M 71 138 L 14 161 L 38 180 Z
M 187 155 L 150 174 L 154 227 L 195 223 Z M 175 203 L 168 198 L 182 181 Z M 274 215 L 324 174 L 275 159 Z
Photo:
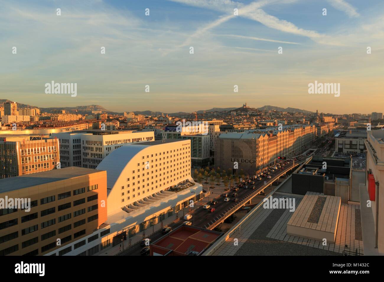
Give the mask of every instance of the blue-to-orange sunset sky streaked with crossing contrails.
M 382 0 L 0 0 L 0 11 L 0 99 L 115 112 L 245 102 L 384 111 Z M 51 81 L 77 83 L 76 97 L 46 94 Z M 309 94 L 315 81 L 339 83 L 340 95 Z

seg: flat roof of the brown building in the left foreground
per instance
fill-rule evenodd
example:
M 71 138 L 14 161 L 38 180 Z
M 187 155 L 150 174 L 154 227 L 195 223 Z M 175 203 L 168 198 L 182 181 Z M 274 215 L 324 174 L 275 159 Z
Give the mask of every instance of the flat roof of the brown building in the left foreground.
M 36 185 L 66 180 L 91 173 L 101 172 L 91 168 L 66 167 L 48 170 L 46 172 L 36 172 L 20 176 L 0 179 L 0 193 L 14 191 Z

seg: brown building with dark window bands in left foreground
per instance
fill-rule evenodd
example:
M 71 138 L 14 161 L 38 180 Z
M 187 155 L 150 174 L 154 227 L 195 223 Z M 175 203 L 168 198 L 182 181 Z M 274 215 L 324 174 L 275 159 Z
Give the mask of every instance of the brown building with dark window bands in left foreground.
M 0 198 L 29 203 L 0 209 L 0 256 L 94 253 L 87 243 L 107 220 L 105 171 L 62 168 L 0 179 L 0 187 Z

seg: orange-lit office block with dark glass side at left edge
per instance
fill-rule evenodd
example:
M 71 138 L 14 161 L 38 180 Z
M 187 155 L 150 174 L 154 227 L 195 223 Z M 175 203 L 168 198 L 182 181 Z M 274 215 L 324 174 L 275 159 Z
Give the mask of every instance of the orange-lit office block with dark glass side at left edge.
M 59 161 L 57 139 L 12 134 L 0 137 L 0 178 L 52 170 Z

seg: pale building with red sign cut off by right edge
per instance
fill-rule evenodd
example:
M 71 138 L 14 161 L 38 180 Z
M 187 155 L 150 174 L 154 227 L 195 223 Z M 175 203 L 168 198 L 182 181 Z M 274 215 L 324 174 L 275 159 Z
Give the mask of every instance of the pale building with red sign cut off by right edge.
M 384 131 L 367 131 L 365 183 L 360 184 L 364 256 L 384 254 Z M 367 206 L 367 203 L 371 203 Z M 363 204 L 364 203 L 364 204 Z

